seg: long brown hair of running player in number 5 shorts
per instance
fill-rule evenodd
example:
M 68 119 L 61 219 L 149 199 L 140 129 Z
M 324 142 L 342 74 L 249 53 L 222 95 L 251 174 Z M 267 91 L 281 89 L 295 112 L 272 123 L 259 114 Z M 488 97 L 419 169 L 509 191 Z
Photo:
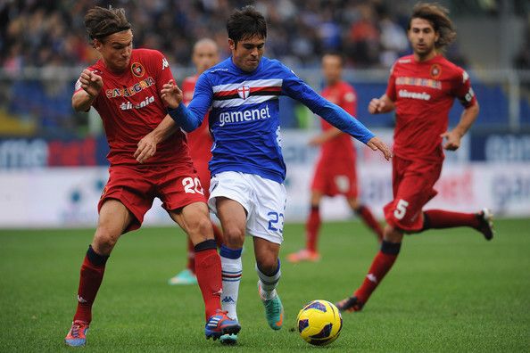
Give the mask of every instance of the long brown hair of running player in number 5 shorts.
M 449 18 L 449 10 L 440 4 L 416 4 L 412 9 L 409 28 L 407 30 L 410 30 L 410 22 L 413 19 L 423 19 L 429 21 L 433 25 L 433 28 L 439 35 L 439 38 L 435 43 L 436 49 L 443 50 L 445 46 L 450 45 L 456 38 L 456 31 Z

